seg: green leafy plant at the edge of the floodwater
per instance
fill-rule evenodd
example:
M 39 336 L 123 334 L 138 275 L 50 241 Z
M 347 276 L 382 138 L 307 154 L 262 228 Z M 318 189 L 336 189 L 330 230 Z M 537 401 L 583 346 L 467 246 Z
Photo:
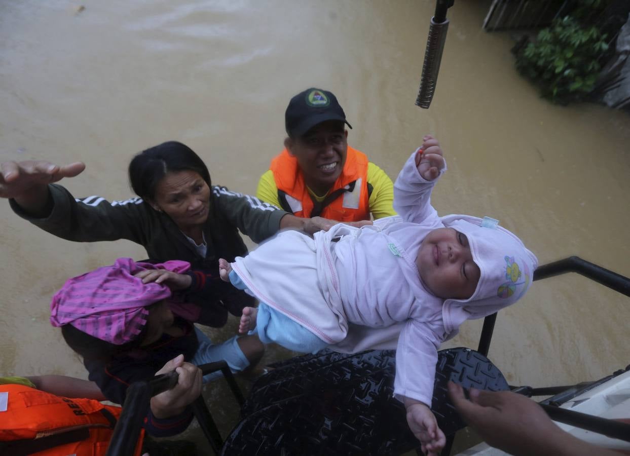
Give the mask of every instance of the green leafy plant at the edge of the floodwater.
M 538 33 L 517 55 L 517 69 L 539 84 L 554 103 L 583 100 L 595 87 L 606 36 L 566 16 Z

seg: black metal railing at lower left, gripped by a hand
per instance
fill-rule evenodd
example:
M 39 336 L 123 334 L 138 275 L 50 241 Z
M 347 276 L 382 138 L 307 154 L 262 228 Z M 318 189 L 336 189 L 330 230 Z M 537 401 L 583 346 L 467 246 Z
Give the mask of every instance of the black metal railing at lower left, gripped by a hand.
M 199 368 L 202 371 L 202 375 L 221 370 L 239 406 L 243 406 L 243 394 L 225 361 L 203 364 L 200 365 Z M 127 398 L 123 404 L 123 410 L 120 414 L 120 418 L 118 418 L 118 423 L 116 423 L 116 427 L 114 428 L 106 456 L 132 456 L 134 454 L 142 422 L 149 411 L 151 397 L 175 387 L 178 377 L 179 374 L 173 371 L 156 375 L 156 377 L 148 381 L 134 382 L 129 386 L 129 389 L 127 389 Z M 203 434 L 210 443 L 210 447 L 212 447 L 215 454 L 219 454 L 223 440 L 208 407 L 203 401 L 203 396 L 197 397 L 191 406 Z

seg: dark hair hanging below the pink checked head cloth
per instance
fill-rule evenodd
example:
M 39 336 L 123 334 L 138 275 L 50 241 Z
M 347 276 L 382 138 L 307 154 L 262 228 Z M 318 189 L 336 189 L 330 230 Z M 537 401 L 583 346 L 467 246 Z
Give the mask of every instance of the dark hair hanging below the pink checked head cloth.
M 82 356 L 84 360 L 109 361 L 115 355 L 138 348 L 147 334 L 147 325 L 144 325 L 144 328 L 134 340 L 122 345 L 116 345 L 95 336 L 90 336 L 88 333 L 81 331 L 81 329 L 74 328 L 71 324 L 62 325 L 61 334 L 64 336 L 67 345 Z

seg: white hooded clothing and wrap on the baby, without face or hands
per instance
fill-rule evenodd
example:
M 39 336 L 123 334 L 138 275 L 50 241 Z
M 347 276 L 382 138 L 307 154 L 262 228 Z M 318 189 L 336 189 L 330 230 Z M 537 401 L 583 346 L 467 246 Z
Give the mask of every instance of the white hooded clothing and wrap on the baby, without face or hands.
M 468 215 L 438 217 L 435 185 L 411 154 L 394 185 L 400 214 L 362 228 L 338 224 L 311 239 L 282 232 L 232 268 L 258 299 L 298 322 L 334 350 L 398 348 L 397 396 L 430 404 L 437 348 L 466 319 L 516 302 L 530 287 L 537 259 L 511 232 Z M 466 235 L 479 266 L 469 299 L 440 299 L 421 279 L 416 256 L 427 234 Z

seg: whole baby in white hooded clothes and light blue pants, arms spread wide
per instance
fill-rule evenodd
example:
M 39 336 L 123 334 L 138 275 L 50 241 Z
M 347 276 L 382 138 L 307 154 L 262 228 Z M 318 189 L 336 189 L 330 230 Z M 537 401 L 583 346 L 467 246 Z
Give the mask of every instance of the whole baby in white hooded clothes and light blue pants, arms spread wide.
M 261 302 L 244 309 L 243 333 L 302 352 L 397 348 L 394 394 L 429 454 L 445 444 L 430 411 L 440 343 L 466 319 L 516 302 L 537 266 L 494 219 L 438 217 L 430 195 L 445 169 L 427 135 L 394 185 L 399 216 L 338 224 L 314 238 L 281 232 L 245 258 L 219 263 L 224 280 Z

